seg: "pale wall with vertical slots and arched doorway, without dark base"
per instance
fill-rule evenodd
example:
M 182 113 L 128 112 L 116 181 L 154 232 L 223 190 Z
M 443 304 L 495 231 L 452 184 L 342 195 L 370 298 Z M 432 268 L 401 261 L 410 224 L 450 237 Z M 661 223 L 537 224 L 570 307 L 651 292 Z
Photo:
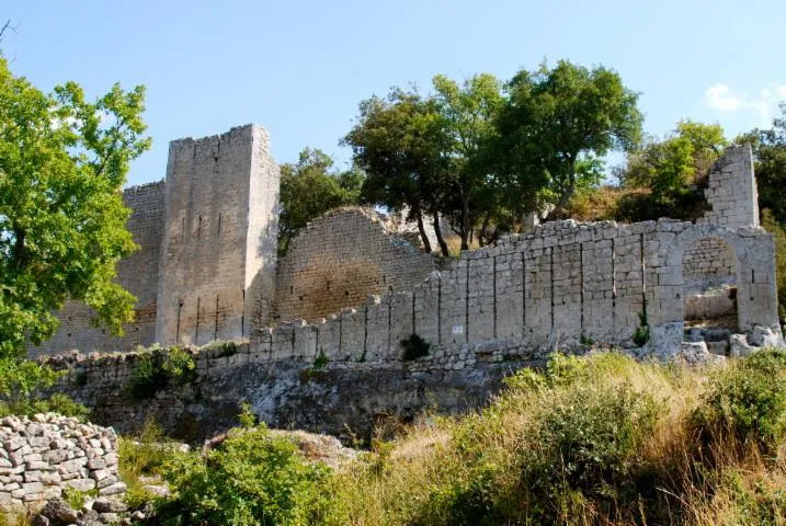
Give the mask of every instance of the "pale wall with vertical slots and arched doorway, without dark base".
M 312 324 L 281 323 L 252 344 L 271 359 L 385 362 L 413 333 L 445 350 L 500 340 L 550 348 L 582 336 L 626 344 L 643 317 L 673 331 L 656 331 L 673 353 L 684 321 L 683 254 L 703 239 L 726 243 L 741 265 L 739 329 L 776 327 L 774 247 L 762 229 L 568 220 L 463 253 L 410 291 L 373 296 Z

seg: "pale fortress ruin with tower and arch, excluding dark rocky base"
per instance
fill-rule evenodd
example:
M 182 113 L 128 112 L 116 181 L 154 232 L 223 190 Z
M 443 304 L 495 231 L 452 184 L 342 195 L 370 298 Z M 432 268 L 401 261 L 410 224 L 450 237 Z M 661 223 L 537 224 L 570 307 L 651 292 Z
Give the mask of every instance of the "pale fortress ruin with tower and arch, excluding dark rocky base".
M 709 210 L 696 224 L 548 222 L 442 272 L 400 224 L 339 209 L 277 260 L 278 167 L 266 132 L 175 140 L 166 181 L 124 192 L 140 250 L 118 275 L 138 298 L 136 320 L 112 338 L 71 301 L 32 353 L 249 339 L 271 357 L 387 361 L 411 334 L 451 352 L 489 341 L 629 344 L 646 328 L 662 354 L 681 346 L 686 319 L 724 319 L 731 333 L 777 329 L 774 245 L 759 227 L 750 147 L 726 152 L 705 193 Z

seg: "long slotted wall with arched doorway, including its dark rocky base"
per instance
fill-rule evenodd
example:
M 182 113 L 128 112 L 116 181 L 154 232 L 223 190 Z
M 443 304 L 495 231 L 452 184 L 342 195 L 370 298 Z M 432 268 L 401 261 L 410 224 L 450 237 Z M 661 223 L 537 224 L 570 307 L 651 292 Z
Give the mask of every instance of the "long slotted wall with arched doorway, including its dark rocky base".
M 69 370 L 62 390 L 124 430 L 155 415 L 171 433 L 203 438 L 235 423 L 240 401 L 276 426 L 368 430 L 385 414 L 481 403 L 506 373 L 542 364 L 555 348 L 582 352 L 594 341 L 639 356 L 674 355 L 684 330 L 683 254 L 704 239 L 738 258 L 740 331 L 777 327 L 774 245 L 762 229 L 568 220 L 465 252 L 409 291 L 201 352 L 196 379 L 149 400 L 128 397 L 139 355 L 53 363 Z M 639 348 L 631 336 L 645 313 L 651 340 Z M 412 334 L 429 354 L 407 362 L 401 343 Z

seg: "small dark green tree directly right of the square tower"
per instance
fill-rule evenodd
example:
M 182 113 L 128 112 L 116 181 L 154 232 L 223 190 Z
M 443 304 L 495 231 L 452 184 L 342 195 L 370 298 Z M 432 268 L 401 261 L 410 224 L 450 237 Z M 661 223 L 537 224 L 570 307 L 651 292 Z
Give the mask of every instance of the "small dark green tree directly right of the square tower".
M 278 252 L 309 221 L 328 210 L 360 203 L 363 174 L 357 170 L 339 173 L 333 159 L 320 149 L 304 148 L 298 161 L 281 167 Z

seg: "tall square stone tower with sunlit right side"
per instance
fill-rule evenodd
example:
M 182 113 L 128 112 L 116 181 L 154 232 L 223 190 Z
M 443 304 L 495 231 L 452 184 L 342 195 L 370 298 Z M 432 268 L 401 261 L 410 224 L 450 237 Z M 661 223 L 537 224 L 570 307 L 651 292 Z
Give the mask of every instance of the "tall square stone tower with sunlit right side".
M 248 336 L 275 295 L 278 167 L 247 125 L 170 142 L 156 341 Z

